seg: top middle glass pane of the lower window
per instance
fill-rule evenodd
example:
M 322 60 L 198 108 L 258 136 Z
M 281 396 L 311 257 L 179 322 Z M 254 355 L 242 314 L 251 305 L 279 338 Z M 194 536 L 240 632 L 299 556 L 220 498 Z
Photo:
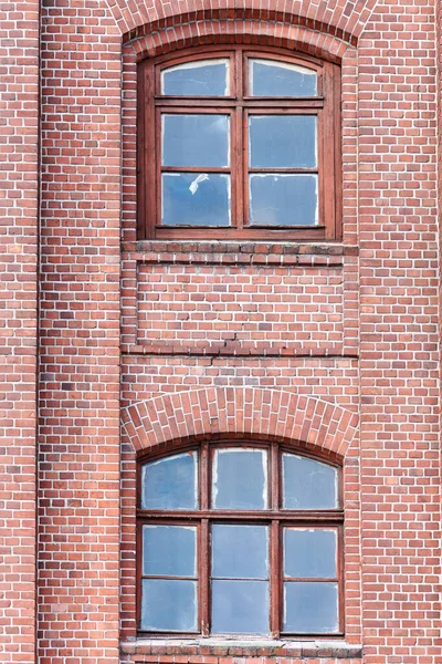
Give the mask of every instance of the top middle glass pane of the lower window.
M 212 507 L 266 509 L 265 449 L 217 449 L 213 460 Z

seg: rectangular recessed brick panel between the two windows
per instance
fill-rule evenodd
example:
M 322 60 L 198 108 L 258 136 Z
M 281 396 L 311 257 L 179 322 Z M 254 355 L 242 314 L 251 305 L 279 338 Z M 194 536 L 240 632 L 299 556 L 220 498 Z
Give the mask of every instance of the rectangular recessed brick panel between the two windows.
M 235 266 L 138 268 L 138 343 L 165 351 L 256 344 L 336 353 L 343 270 Z

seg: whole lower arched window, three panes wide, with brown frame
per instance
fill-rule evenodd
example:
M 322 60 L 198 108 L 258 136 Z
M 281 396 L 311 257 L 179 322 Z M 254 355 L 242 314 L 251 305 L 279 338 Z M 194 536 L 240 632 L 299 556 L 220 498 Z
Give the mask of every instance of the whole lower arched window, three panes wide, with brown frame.
M 138 483 L 140 633 L 343 634 L 339 467 L 204 443 L 144 461 Z

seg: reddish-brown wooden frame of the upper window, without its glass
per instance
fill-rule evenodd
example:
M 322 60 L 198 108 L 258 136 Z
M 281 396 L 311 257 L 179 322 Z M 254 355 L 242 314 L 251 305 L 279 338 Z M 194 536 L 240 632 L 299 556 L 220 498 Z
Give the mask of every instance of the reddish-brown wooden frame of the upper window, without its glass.
M 198 60 L 230 60 L 230 95 L 167 96 L 160 94 L 161 71 Z M 309 97 L 248 96 L 249 59 L 266 59 L 312 69 L 318 91 Z M 192 48 L 140 62 L 138 69 L 138 239 L 333 241 L 341 237 L 340 68 L 325 60 L 284 49 L 245 45 Z M 231 226 L 161 226 L 160 115 L 167 113 L 230 113 L 231 164 L 218 172 L 231 174 Z M 253 112 L 307 114 L 318 117 L 318 225 L 249 226 L 246 117 Z M 170 168 L 166 168 L 170 170 Z M 178 169 L 177 169 L 178 170 Z M 189 172 L 191 168 L 183 167 Z M 198 169 L 201 172 L 201 168 Z M 207 169 L 215 173 L 217 168 Z M 259 172 L 260 169 L 254 169 Z M 269 172 L 269 168 L 262 168 Z M 284 169 L 288 173 L 287 169 Z M 299 169 L 293 169 L 299 172 Z

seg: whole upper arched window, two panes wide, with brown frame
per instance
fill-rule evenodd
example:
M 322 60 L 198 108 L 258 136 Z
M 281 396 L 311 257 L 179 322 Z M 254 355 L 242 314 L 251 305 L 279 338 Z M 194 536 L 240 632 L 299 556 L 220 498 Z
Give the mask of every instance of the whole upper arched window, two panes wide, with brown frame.
M 145 60 L 140 238 L 339 237 L 339 68 L 243 46 Z

